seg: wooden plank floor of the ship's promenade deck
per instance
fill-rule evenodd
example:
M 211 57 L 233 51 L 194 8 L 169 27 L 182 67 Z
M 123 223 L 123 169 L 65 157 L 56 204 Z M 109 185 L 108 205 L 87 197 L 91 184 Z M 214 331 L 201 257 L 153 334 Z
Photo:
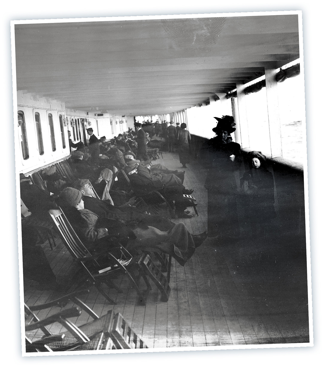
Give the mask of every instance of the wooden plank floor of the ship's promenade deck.
M 183 170 L 176 153 L 163 153 L 163 159 L 156 163 Z M 194 189 L 199 216 L 173 221 L 181 221 L 191 233 L 199 234 L 207 230 L 206 172 L 198 161 L 184 170 L 184 185 Z M 110 309 L 120 312 L 149 348 L 309 342 L 305 239 L 291 235 L 279 220 L 262 236 L 245 231 L 234 244 L 208 238 L 185 266 L 173 259 L 168 302 L 160 301 L 160 293 L 152 284 L 146 306 L 137 305 L 137 293 L 125 277 L 118 279 L 123 293 L 109 290 L 115 306 L 94 287 L 80 298 L 99 316 Z M 64 283 L 75 265 L 60 239 L 56 237 L 55 241 L 53 251 L 47 242 L 42 247 L 57 281 Z M 62 295 L 39 290 L 31 280 L 24 281 L 27 305 Z M 70 302 L 66 308 L 71 306 Z M 38 316 L 42 319 L 59 310 L 53 307 L 39 311 Z M 78 326 L 87 321 L 87 316 L 82 313 L 73 320 Z M 51 331 L 61 329 L 53 324 Z

